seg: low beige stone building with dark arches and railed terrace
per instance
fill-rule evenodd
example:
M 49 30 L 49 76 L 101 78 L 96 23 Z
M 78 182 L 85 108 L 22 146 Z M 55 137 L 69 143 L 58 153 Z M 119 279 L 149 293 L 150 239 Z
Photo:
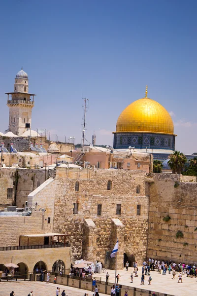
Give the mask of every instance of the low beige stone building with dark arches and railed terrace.
M 19 216 L 17 212 L 0 213 L 0 269 L 4 264 L 19 266 L 15 275 L 48 271 L 69 273 L 71 250 L 66 236 L 46 232 L 45 212 L 34 211 L 31 216 Z M 1 215 L 3 214 L 3 216 Z M 9 215 L 9 216 L 7 216 Z M 47 221 L 48 224 L 48 221 Z

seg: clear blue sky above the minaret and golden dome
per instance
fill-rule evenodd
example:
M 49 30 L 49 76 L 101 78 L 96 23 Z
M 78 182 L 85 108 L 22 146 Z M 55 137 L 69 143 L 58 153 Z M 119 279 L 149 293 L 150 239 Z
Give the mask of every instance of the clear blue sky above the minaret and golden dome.
M 112 144 L 116 120 L 148 96 L 174 114 L 176 148 L 197 152 L 196 0 L 8 0 L 0 4 L 0 131 L 8 128 L 4 92 L 23 66 L 37 94 L 32 128 L 80 142 Z M 54 136 L 55 140 L 55 136 Z

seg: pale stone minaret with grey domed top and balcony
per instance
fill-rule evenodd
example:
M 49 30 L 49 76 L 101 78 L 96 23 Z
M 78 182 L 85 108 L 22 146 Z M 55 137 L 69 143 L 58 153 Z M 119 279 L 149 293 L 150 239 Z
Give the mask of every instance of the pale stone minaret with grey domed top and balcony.
M 32 108 L 36 95 L 30 94 L 28 91 L 28 74 L 22 68 L 14 79 L 14 92 L 6 93 L 7 106 L 9 107 L 9 130 L 18 136 L 30 128 L 32 123 Z

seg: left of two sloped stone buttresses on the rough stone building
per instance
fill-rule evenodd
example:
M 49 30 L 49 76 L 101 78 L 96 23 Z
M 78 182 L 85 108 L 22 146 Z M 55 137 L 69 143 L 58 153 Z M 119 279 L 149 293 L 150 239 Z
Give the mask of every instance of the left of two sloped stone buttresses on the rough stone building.
M 92 219 L 84 219 L 82 259 L 93 260 L 97 256 L 97 226 Z

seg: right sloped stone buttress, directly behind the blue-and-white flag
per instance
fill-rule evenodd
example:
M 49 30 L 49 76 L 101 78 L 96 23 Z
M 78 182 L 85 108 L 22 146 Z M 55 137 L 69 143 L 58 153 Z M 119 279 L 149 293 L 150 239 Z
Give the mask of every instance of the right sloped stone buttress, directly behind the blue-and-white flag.
M 111 237 L 110 237 L 110 249 L 113 250 L 116 242 L 119 242 L 117 269 L 123 269 L 124 267 L 124 225 L 119 219 L 111 219 Z M 117 255 L 116 255 L 117 256 Z M 116 268 L 116 259 L 110 259 L 110 269 Z

